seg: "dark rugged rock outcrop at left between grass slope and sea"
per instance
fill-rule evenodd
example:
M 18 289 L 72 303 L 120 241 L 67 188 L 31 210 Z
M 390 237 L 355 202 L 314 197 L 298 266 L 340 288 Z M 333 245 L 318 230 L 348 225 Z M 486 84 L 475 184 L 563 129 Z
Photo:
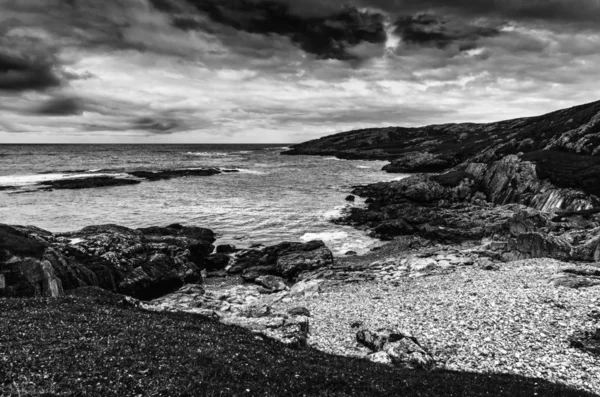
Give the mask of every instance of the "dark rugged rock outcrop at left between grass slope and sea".
M 0 295 L 57 296 L 97 286 L 152 299 L 202 282 L 214 241 L 208 229 L 177 224 L 100 225 L 61 234 L 0 225 Z

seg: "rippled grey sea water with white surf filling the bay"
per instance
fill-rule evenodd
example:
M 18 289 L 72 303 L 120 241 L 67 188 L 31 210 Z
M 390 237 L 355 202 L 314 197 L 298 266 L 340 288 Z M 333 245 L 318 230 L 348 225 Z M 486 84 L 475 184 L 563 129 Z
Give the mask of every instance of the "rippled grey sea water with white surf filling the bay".
M 335 225 L 353 185 L 402 176 L 385 162 L 282 156 L 281 145 L 0 145 L 0 223 L 53 232 L 116 223 L 128 227 L 181 223 L 207 227 L 217 244 L 238 247 L 321 239 L 340 255 L 380 244 Z M 40 191 L 45 180 L 120 175 L 134 170 L 219 167 L 210 177 L 138 185 Z M 9 188 L 10 186 L 10 188 Z

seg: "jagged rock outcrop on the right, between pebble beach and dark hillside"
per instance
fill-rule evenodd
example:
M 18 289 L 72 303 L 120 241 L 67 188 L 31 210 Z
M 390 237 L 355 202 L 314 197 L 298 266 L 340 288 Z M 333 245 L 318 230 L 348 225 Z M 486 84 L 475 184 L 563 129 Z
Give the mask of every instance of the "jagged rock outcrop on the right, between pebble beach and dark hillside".
M 374 237 L 416 234 L 446 244 L 488 238 L 503 260 L 600 261 L 598 198 L 540 181 L 535 167 L 518 156 L 361 186 L 353 193 L 369 204 L 352 208 L 340 222 L 369 228 Z

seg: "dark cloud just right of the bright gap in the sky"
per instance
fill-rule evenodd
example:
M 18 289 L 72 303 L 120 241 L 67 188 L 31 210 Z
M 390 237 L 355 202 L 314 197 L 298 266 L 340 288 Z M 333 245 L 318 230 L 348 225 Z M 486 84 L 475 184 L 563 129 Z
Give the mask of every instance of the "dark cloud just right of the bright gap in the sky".
M 475 24 L 457 18 L 441 18 L 431 14 L 401 17 L 396 22 L 395 33 L 406 43 L 446 48 L 457 44 L 461 51 L 477 47 L 477 41 L 501 33 L 498 22 Z

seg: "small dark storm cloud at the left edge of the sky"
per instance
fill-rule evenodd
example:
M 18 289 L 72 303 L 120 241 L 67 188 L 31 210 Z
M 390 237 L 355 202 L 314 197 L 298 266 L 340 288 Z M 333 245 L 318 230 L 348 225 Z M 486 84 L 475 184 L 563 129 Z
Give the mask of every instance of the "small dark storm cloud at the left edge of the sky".
M 57 66 L 50 58 L 27 58 L 3 53 L 0 48 L 0 90 L 44 90 L 61 85 Z

